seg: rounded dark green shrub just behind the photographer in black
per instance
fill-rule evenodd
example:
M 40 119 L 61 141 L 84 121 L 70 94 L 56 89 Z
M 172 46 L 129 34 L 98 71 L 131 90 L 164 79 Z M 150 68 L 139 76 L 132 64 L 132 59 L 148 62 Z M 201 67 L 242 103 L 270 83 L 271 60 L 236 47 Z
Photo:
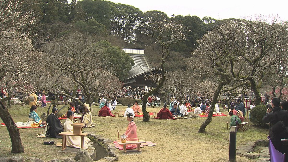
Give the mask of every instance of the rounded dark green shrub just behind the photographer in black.
M 266 123 L 262 122 L 262 118 L 263 118 L 264 114 L 266 114 L 266 110 L 267 110 L 266 105 L 255 106 L 250 111 L 251 122 L 253 122 L 257 125 L 261 125 L 261 126 L 266 125 Z

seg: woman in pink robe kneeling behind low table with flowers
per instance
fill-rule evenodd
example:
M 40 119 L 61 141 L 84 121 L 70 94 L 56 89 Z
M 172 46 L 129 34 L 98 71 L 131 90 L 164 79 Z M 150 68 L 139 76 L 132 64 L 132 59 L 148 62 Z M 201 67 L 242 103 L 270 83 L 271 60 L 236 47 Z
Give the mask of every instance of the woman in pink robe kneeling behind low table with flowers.
M 127 129 L 126 129 L 126 132 L 124 133 L 124 135 L 127 136 L 126 137 L 127 141 L 136 141 L 136 140 L 138 140 L 138 136 L 137 136 L 137 126 L 133 120 L 134 116 L 132 113 L 128 113 L 128 114 L 126 114 L 126 116 L 127 116 L 127 121 L 129 123 L 128 123 Z M 116 148 L 119 148 L 119 150 L 123 150 L 123 145 L 118 144 L 118 142 L 120 142 L 120 141 L 121 140 L 114 141 L 114 144 L 115 144 Z M 135 148 L 137 148 L 137 144 L 127 144 L 126 145 L 126 150 L 132 150 Z

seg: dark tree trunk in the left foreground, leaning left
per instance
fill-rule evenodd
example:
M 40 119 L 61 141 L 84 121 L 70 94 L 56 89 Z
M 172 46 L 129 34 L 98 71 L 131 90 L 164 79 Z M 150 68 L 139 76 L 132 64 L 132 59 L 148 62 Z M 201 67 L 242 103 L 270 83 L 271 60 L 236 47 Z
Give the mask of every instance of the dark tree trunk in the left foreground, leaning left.
M 5 123 L 11 139 L 11 153 L 24 152 L 24 147 L 21 142 L 19 129 L 15 125 L 11 115 L 9 114 L 7 108 L 5 108 L 5 106 L 3 105 L 2 101 L 0 101 L 0 105 L 0 117 Z

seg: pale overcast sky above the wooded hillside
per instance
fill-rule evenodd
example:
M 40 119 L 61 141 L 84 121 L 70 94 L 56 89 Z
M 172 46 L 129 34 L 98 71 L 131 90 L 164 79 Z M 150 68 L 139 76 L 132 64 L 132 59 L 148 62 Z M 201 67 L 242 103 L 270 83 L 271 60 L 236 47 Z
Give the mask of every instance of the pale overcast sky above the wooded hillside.
M 243 18 L 257 15 L 277 15 L 288 21 L 287 0 L 109 0 L 114 3 L 132 5 L 142 12 L 159 10 L 167 16 L 195 15 L 215 19 Z

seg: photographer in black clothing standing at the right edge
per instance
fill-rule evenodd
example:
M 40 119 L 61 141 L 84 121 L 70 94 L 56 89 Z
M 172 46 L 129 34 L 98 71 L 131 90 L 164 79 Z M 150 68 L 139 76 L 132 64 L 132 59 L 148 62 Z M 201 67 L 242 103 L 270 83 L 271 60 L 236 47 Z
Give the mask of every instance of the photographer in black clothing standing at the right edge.
M 269 136 L 273 146 L 282 153 L 287 153 L 287 146 L 281 143 L 282 138 L 287 138 L 285 127 L 288 126 L 288 113 L 280 107 L 280 99 L 273 98 L 272 109 L 268 107 L 266 114 L 262 118 L 264 123 L 269 123 Z

